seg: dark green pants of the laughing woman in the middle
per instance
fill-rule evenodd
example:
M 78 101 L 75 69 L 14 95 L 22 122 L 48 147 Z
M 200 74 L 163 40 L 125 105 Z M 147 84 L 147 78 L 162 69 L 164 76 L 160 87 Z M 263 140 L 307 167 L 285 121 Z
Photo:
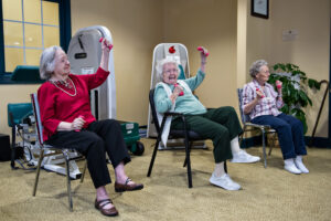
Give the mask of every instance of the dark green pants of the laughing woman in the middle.
M 203 139 L 212 139 L 215 162 L 232 159 L 229 141 L 243 133 L 238 116 L 233 107 L 211 108 L 202 115 L 186 115 L 188 129 L 195 131 Z M 171 128 L 182 129 L 183 123 L 175 118 Z

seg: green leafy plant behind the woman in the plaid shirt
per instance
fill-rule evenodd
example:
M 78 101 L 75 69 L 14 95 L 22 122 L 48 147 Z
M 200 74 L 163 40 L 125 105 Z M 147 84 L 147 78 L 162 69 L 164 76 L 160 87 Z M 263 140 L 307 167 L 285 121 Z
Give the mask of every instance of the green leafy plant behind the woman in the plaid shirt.
M 268 83 L 273 84 L 275 90 L 277 80 L 282 82 L 281 92 L 285 105 L 280 110 L 300 119 L 303 124 L 306 134 L 308 126 L 306 113 L 302 110 L 302 107 L 306 107 L 307 105 L 312 106 L 311 98 L 307 94 L 307 86 L 320 90 L 321 84 L 313 78 L 308 78 L 306 73 L 302 72 L 299 66 L 291 63 L 277 63 L 273 66 Z

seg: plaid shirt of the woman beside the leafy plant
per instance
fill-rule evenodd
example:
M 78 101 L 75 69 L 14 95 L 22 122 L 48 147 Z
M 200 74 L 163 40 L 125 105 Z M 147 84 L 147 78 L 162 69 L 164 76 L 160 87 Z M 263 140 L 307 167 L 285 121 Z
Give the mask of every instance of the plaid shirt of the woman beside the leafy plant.
M 266 83 L 265 88 L 263 90 L 263 87 L 255 80 L 244 85 L 242 108 L 244 109 L 247 104 L 255 99 L 257 96 L 257 88 L 264 93 L 265 97 L 261 98 L 249 113 L 250 119 L 263 115 L 278 116 L 281 114 L 281 112 L 278 109 L 284 106 L 284 102 L 277 99 L 278 93 L 274 90 L 274 86 Z

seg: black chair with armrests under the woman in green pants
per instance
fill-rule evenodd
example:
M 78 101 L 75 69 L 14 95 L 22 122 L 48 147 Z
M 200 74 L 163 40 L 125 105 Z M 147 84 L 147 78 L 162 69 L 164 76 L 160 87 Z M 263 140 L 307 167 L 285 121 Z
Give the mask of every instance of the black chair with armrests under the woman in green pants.
M 157 156 L 157 151 L 159 149 L 159 144 L 161 141 L 161 135 L 162 135 L 162 131 L 163 131 L 163 128 L 164 128 L 166 120 L 170 116 L 177 116 L 177 117 L 180 117 L 183 120 L 184 129 L 182 129 L 182 130 L 170 129 L 168 139 L 184 138 L 185 160 L 184 160 L 183 167 L 186 166 L 189 188 L 192 188 L 193 185 L 192 185 L 190 151 L 191 151 L 191 147 L 192 147 L 193 141 L 203 140 L 203 138 L 201 138 L 196 133 L 186 129 L 185 116 L 183 114 L 180 114 L 180 113 L 174 113 L 174 112 L 164 113 L 163 114 L 163 120 L 162 120 L 161 126 L 160 126 L 159 122 L 158 122 L 156 105 L 154 105 L 154 90 L 153 88 L 150 90 L 150 92 L 149 92 L 149 104 L 150 104 L 150 107 L 151 107 L 152 120 L 154 123 L 158 137 L 157 137 L 157 141 L 156 141 L 156 145 L 154 145 L 153 154 L 152 154 L 152 157 L 151 157 L 151 160 L 150 160 L 147 177 L 150 177 L 150 175 L 151 175 L 153 164 L 154 164 L 154 159 L 156 159 L 156 156 Z M 226 161 L 224 162 L 224 169 L 225 169 L 225 171 L 227 171 Z

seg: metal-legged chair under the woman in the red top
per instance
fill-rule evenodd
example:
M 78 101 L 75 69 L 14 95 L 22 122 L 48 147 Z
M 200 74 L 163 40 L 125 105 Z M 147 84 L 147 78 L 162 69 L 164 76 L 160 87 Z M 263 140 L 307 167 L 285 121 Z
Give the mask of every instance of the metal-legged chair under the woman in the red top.
M 39 157 L 39 160 L 38 160 L 36 175 L 35 175 L 35 181 L 34 181 L 32 196 L 35 197 L 38 181 L 39 181 L 39 175 L 40 175 L 40 168 L 41 168 L 41 165 L 42 165 L 42 161 L 43 161 L 44 157 L 62 154 L 64 159 L 65 159 L 68 206 L 70 206 L 70 211 L 73 211 L 73 200 L 72 200 L 72 191 L 71 191 L 71 177 L 70 177 L 70 161 L 75 160 L 77 158 L 70 158 L 68 154 L 70 154 L 70 151 L 73 151 L 73 150 L 60 149 L 60 148 L 55 148 L 51 145 L 44 144 L 44 140 L 43 140 L 43 126 L 42 126 L 42 123 L 41 123 L 38 95 L 34 93 L 34 94 L 31 94 L 30 96 L 31 96 L 33 113 L 34 113 L 34 117 L 35 117 L 35 125 L 36 125 L 36 131 L 38 131 L 38 141 L 40 144 L 40 157 Z M 45 154 L 45 150 L 47 150 L 49 154 Z M 82 157 L 78 157 L 78 158 L 82 158 Z M 85 171 L 86 171 L 86 167 L 87 167 L 87 164 L 85 162 L 85 166 L 84 166 L 84 169 L 83 169 L 83 172 L 82 172 L 82 177 L 81 177 L 81 182 L 83 182 L 83 180 L 84 180 L 84 175 L 85 175 Z

